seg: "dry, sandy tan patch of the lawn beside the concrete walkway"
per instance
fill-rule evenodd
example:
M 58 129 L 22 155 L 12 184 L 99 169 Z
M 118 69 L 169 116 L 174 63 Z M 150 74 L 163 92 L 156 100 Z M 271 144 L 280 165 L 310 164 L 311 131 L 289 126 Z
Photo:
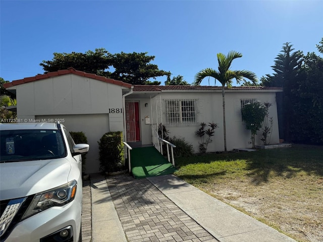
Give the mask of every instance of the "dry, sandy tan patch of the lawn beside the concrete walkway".
M 198 187 L 299 241 L 319 242 L 323 241 L 320 183 L 315 177 L 302 181 L 279 178 L 255 186 L 249 178 Z

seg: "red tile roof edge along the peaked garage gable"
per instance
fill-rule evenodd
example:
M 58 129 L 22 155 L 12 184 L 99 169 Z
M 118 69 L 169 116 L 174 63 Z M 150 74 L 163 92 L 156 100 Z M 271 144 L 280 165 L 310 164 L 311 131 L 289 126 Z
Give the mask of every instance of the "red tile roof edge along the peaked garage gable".
M 88 77 L 88 78 L 96 79 L 96 80 L 99 80 L 99 81 L 102 81 L 102 82 L 111 83 L 111 84 L 115 84 L 115 85 L 119 85 L 119 86 L 127 87 L 127 88 L 132 87 L 131 84 L 124 83 L 124 82 L 121 82 L 121 81 L 117 81 L 117 80 L 114 80 L 114 79 L 105 78 L 105 77 L 102 77 L 102 76 L 97 76 L 95 74 L 76 71 L 72 67 L 68 68 L 67 70 L 59 70 L 57 72 L 48 72 L 46 74 L 40 74 L 40 75 L 37 75 L 37 76 L 34 76 L 34 77 L 26 77 L 24 79 L 12 81 L 10 83 L 5 83 L 4 87 L 5 88 L 13 87 L 13 86 L 17 86 L 17 85 L 28 83 L 28 82 L 34 82 L 34 81 L 38 81 L 38 80 L 41 80 L 41 79 L 45 79 L 45 78 L 49 78 L 49 77 L 56 77 L 56 76 L 61 76 L 61 75 L 66 75 L 66 74 L 74 74 L 74 75 L 78 75 L 78 76 L 81 76 L 81 77 Z

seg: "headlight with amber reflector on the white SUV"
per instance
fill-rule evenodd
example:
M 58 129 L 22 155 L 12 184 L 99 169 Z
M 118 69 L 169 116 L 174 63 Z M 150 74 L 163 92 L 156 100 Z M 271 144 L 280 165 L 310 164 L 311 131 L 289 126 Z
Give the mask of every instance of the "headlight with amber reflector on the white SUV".
M 64 206 L 74 200 L 77 181 L 72 180 L 60 187 L 35 194 L 31 204 L 22 216 L 21 220 L 42 212 L 51 207 Z

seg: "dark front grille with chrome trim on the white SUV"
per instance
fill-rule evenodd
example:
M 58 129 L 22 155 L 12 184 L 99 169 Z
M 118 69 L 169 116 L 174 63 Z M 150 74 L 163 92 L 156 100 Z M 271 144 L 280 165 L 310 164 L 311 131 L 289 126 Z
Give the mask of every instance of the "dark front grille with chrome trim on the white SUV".
M 19 222 L 33 196 L 0 201 L 0 238 L 3 241 Z

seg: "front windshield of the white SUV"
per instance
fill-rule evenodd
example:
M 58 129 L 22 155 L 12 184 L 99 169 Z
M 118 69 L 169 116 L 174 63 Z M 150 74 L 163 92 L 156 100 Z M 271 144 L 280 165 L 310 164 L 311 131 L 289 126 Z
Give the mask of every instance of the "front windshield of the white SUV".
M 66 156 L 65 144 L 59 130 L 2 130 L 0 140 L 0 162 Z

